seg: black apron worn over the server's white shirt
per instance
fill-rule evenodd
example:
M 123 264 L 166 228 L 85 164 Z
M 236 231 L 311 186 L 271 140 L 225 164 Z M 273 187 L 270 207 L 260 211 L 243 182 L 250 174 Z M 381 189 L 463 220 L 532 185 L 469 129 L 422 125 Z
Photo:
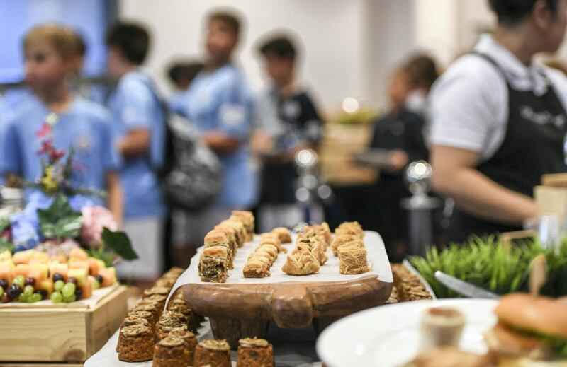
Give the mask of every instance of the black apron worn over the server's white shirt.
M 567 134 L 567 115 L 557 98 L 551 81 L 546 93 L 537 96 L 532 91 L 516 91 L 507 81 L 504 71 L 485 54 L 478 54 L 504 76 L 508 88 L 508 121 L 502 145 L 488 161 L 476 168 L 490 180 L 534 196 L 534 187 L 541 175 L 567 171 L 563 143 Z M 508 226 L 478 218 L 455 206 L 449 226 L 449 242 L 462 243 L 471 235 L 490 235 L 519 231 L 519 226 Z

